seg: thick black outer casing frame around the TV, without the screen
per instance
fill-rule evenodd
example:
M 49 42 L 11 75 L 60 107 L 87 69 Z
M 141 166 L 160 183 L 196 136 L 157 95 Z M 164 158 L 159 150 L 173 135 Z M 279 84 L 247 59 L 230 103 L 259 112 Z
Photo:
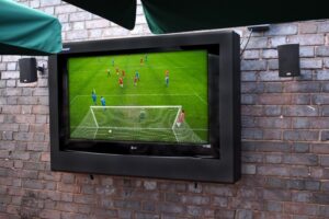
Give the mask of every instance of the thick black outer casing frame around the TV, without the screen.
M 217 158 L 166 157 L 144 154 L 104 153 L 88 150 L 71 150 L 67 139 L 65 119 L 67 112 L 67 76 L 63 76 L 63 60 L 70 56 L 109 50 L 164 49 L 184 46 L 213 45 L 219 47 L 218 74 L 208 76 L 209 103 L 218 101 L 219 123 L 209 125 L 211 138 L 219 141 Z M 160 36 L 128 37 L 98 42 L 65 44 L 63 53 L 49 57 L 49 107 L 50 107 L 50 165 L 53 171 L 83 172 L 234 183 L 240 178 L 240 38 L 235 32 L 194 32 Z M 65 73 L 64 73 L 65 74 Z M 218 81 L 214 83 L 214 78 Z M 212 85 L 213 84 L 213 85 Z M 214 84 L 218 88 L 214 88 Z M 217 93 L 218 92 L 218 93 Z M 218 99 L 218 100 L 216 100 Z M 209 108 L 212 105 L 209 104 Z M 214 110 L 212 110 L 214 111 Z M 211 112 L 211 110 L 209 110 Z M 209 117 L 209 123 L 212 116 Z M 217 127 L 214 127 L 217 126 Z M 215 130 L 215 132 L 214 132 Z M 214 136 L 215 135 L 215 136 Z M 94 141 L 79 141 L 82 146 Z M 104 142 L 102 142 L 104 143 Z M 111 143 L 111 142 L 109 142 Z M 126 143 L 129 147 L 129 143 Z

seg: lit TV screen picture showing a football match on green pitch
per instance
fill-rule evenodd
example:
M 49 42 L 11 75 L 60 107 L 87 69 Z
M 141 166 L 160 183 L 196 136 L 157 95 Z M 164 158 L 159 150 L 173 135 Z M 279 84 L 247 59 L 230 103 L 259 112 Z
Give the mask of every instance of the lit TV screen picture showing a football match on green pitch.
M 71 139 L 208 142 L 205 50 L 70 58 L 68 74 Z

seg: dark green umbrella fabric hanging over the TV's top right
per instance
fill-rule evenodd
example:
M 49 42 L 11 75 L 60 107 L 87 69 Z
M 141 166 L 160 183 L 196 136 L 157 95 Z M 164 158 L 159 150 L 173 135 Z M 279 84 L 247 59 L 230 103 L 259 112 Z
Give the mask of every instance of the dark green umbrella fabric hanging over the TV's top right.
M 320 0 L 141 0 L 152 33 L 175 33 L 329 18 Z

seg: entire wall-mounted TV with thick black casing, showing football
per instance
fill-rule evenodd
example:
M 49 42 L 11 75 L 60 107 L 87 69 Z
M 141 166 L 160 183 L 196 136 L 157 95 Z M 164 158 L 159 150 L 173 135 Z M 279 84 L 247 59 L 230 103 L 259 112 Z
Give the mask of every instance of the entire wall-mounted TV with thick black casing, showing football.
M 234 32 L 66 44 L 49 58 L 52 169 L 235 182 L 239 95 Z

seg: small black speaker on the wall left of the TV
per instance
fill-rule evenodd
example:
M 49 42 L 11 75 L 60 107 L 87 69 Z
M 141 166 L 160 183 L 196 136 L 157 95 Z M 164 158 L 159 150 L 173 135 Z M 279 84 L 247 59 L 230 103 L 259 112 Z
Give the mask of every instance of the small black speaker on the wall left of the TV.
M 37 80 L 35 58 L 22 58 L 19 60 L 19 65 L 21 83 L 30 83 Z

